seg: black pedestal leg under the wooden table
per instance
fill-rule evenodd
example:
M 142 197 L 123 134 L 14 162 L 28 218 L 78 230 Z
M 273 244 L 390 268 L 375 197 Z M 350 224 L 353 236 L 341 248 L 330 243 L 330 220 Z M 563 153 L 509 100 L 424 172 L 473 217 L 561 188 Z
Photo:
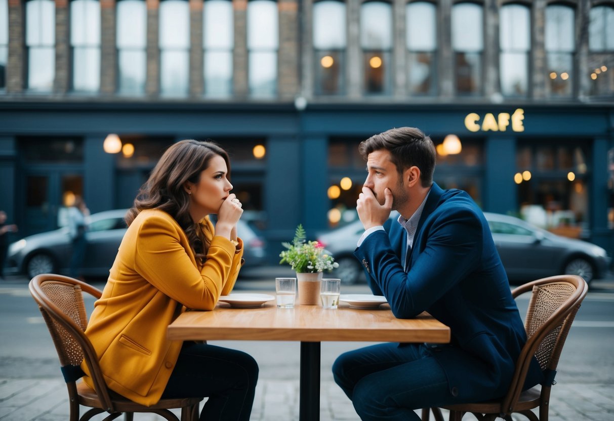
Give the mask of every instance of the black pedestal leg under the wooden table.
M 298 419 L 320 419 L 320 342 L 301 342 Z

